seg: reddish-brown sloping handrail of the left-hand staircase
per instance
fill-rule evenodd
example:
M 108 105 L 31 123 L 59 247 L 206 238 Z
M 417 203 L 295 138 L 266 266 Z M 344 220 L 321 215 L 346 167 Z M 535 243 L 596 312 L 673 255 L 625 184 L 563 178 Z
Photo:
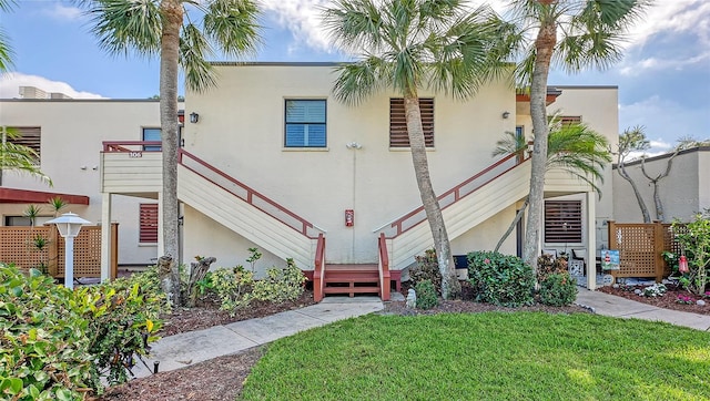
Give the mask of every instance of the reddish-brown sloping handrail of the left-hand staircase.
M 184 163 L 184 158 L 190 158 L 192 161 L 194 161 L 195 163 L 197 163 L 199 165 L 201 165 L 202 167 L 204 167 L 205 169 L 207 169 L 209 172 L 216 174 L 217 176 L 229 181 L 231 184 L 236 185 L 240 189 L 244 191 L 246 193 L 246 196 L 241 196 L 240 194 L 235 193 L 232 189 L 225 188 L 224 186 L 217 184 L 214 179 L 207 177 L 206 175 L 204 175 L 201 172 L 197 172 L 195 168 L 186 165 Z M 248 185 L 240 182 L 239 179 L 235 179 L 234 177 L 230 176 L 229 174 L 222 172 L 221 169 L 212 166 L 211 164 L 209 164 L 207 162 L 203 161 L 202 158 L 191 154 L 190 152 L 186 152 L 184 150 L 180 150 L 178 152 L 178 164 L 183 165 L 185 168 L 190 169 L 191 172 L 200 175 L 201 177 L 205 178 L 206 181 L 211 182 L 212 184 L 221 187 L 222 189 L 230 192 L 232 195 L 239 197 L 240 199 L 246 202 L 247 204 L 256 207 L 257 209 L 264 212 L 265 214 L 272 216 L 273 218 L 280 220 L 281 223 L 287 225 L 288 227 L 295 229 L 296 232 L 303 234 L 304 236 L 311 238 L 311 239 L 315 239 L 315 236 L 311 236 L 308 235 L 308 228 L 314 228 L 313 224 L 310 223 L 308 220 L 306 220 L 305 218 L 296 215 L 295 213 L 286 209 L 284 206 L 280 205 L 278 203 L 272 200 L 271 198 L 266 197 L 265 195 L 262 195 L 261 193 L 258 193 L 257 191 L 255 191 L 254 188 L 250 187 Z M 258 205 L 255 204 L 255 200 L 260 199 L 264 203 L 267 203 L 268 205 L 273 206 L 274 208 L 276 208 L 278 212 L 285 214 L 286 216 L 295 219 L 296 222 L 300 223 L 300 228 L 294 227 L 292 224 L 288 224 L 288 222 L 286 222 L 283 218 L 280 218 L 278 216 L 274 216 L 273 214 L 268 213 L 267 210 L 264 210 L 262 207 L 260 207 Z

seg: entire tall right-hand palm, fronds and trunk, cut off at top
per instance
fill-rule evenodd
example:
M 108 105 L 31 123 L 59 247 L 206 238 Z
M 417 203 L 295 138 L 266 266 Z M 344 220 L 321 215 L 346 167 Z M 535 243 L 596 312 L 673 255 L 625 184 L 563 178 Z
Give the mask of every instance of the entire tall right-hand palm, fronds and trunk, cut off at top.
M 587 66 L 605 69 L 622 56 L 627 29 L 650 4 L 649 0 L 520 0 L 513 16 L 520 31 L 514 35 L 524 54 L 518 78 L 530 85 L 530 116 L 535 141 L 531 156 L 530 207 L 524 259 L 536 266 L 538 255 L 549 126 L 547 79 L 552 62 L 568 72 Z M 537 31 L 526 35 L 526 31 Z M 528 40 L 534 38 L 534 40 Z M 558 41 L 559 38 L 559 41 Z

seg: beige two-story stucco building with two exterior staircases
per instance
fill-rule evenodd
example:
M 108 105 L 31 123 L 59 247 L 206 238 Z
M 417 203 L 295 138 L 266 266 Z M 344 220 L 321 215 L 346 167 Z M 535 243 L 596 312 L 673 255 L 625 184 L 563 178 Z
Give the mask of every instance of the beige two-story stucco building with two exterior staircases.
M 183 261 L 210 255 L 217 258 L 217 266 L 246 265 L 247 248 L 258 247 L 264 254 L 260 270 L 283 266 L 285 258 L 312 270 L 316 238 L 322 234 L 327 264 L 377 264 L 378 236 L 384 234 L 390 269 L 400 270 L 414 256 L 432 248 L 424 214 L 416 210 L 420 198 L 410 153 L 402 142 L 398 96 L 378 93 L 357 105 L 343 104 L 332 93 L 334 66 L 216 63 L 217 86 L 186 93 L 179 164 Z M 617 93 L 616 86 L 551 86 L 549 111 L 587 123 L 616 144 Z M 528 193 L 529 161 L 516 165 L 515 157 L 494 158 L 491 152 L 505 132 L 530 136 L 528 101 L 516 94 L 510 82 L 490 83 L 466 102 L 428 92 L 419 95 L 429 130 L 432 182 L 443 194 L 453 253 L 493 249 Z M 10 120 L 20 111 L 6 107 L 29 109 L 31 103 L 3 102 L 0 125 L 42 125 L 43 137 L 52 130 L 61 131 L 58 136 L 69 141 L 67 147 L 79 146 L 87 153 L 72 157 L 77 166 L 71 164 L 71 168 L 59 162 L 59 154 L 52 156 L 57 162 L 47 165 L 43 156 L 42 167 L 50 175 L 54 171 L 67 175 L 55 179 L 54 189 L 90 194 L 90 207 L 77 210 L 89 219 L 119 220 L 121 227 L 138 222 L 135 205 L 161 200 L 162 155 L 131 141 L 141 141 L 141 127 L 158 122 L 158 103 L 62 102 L 67 109 L 24 112 L 34 120 Z M 82 110 L 92 104 L 97 106 Z M 115 110 L 99 111 L 101 104 Z M 44 113 L 48 119 L 53 115 L 51 122 L 38 120 Z M 187 117 L 191 114 L 194 123 Z M 83 115 L 99 121 L 94 125 Z M 109 116 L 121 117 L 114 124 Z M 69 127 L 64 121 L 70 121 Z M 74 123 L 81 128 L 73 127 Z M 44 128 L 44 124 L 59 127 Z M 115 143 L 102 147 L 102 141 Z M 59 147 L 42 146 L 42 152 L 60 153 Z M 82 174 L 93 174 L 93 178 L 87 178 L 85 188 L 73 186 Z M 552 232 L 570 222 L 576 235 L 565 240 L 544 235 L 547 240 L 541 248 L 600 247 L 604 222 L 613 218 L 610 175 L 608 168 L 604 197 L 598 198 L 588 185 L 568 174 L 548 173 L 546 198 L 554 207 L 548 214 L 551 223 L 544 229 Z M 13 185 L 32 188 L 27 179 Z M 99 209 L 93 208 L 99 204 Z M 3 214 L 6 206 L 0 205 Z M 121 254 L 148 250 L 130 238 L 121 234 Z M 161 240 L 159 236 L 151 255 L 140 258 L 160 255 Z M 521 232 L 517 238 L 511 235 L 501 251 L 516 254 L 520 241 Z M 587 266 L 594 269 L 594 253 L 587 258 L 592 260 Z M 588 275 L 590 286 L 592 276 Z

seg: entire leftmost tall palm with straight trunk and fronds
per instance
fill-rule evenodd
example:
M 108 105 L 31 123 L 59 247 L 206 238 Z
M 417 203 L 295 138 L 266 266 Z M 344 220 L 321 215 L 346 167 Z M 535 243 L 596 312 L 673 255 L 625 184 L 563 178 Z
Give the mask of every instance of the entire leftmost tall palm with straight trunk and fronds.
M 180 305 L 178 251 L 178 72 L 187 88 L 202 92 L 215 84 L 211 43 L 227 56 L 254 51 L 258 43 L 257 8 L 253 0 L 75 0 L 87 8 L 99 45 L 113 54 L 133 51 L 160 55 L 160 120 L 163 152 L 163 245 L 172 260 L 166 294 Z M 187 13 L 195 9 L 201 28 Z

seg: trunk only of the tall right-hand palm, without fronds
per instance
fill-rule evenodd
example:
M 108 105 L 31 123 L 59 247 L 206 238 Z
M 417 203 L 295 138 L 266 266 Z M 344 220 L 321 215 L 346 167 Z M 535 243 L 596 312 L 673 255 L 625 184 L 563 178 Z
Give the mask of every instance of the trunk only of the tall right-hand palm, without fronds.
M 554 20 L 545 21 L 535 40 L 536 58 L 530 84 L 530 115 L 535 141 L 532 144 L 530 174 L 530 206 L 528 222 L 525 228 L 525 249 L 523 259 L 537 271 L 537 254 L 540 243 L 540 226 L 542 223 L 542 203 L 545 198 L 545 169 L 547 167 L 547 137 L 549 126 L 547 122 L 546 97 L 547 76 L 550 60 L 557 42 L 557 24 Z

